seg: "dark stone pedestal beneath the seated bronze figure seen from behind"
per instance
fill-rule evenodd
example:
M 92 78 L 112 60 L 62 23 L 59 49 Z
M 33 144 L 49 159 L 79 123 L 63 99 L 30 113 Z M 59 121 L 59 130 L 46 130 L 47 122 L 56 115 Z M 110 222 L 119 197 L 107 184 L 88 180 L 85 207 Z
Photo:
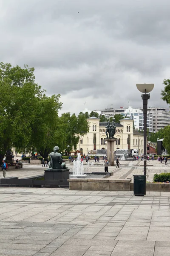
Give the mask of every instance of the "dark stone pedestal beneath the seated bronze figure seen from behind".
M 54 183 L 54 181 L 56 181 L 56 184 L 59 186 L 69 185 L 69 183 L 67 181 L 69 179 L 69 170 L 70 169 L 45 170 L 44 171 L 44 180 L 48 180 L 49 185 L 50 185 L 50 182 Z

